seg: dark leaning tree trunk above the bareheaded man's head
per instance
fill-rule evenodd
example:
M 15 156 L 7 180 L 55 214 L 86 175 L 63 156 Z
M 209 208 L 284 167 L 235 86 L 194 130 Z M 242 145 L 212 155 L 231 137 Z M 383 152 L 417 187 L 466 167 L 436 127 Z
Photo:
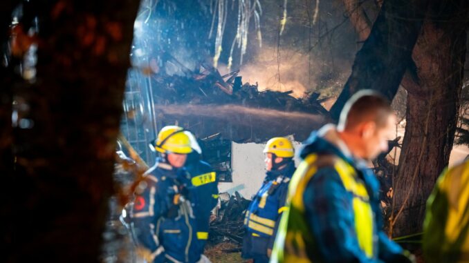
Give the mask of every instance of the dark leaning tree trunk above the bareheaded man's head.
M 345 102 L 358 90 L 378 90 L 392 100 L 412 62 L 412 49 L 429 1 L 384 1 L 369 37 L 356 55 L 352 73 L 331 108 L 333 119 L 338 119 Z

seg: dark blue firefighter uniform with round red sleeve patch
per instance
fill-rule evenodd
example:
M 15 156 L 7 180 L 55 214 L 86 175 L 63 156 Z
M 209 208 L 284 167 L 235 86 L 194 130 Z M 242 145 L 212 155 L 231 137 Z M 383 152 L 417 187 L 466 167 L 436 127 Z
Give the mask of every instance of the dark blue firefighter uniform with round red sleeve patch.
M 190 196 L 190 176 L 156 162 L 136 187 L 130 213 L 134 235 L 151 253 L 149 262 L 197 262 L 197 224 Z M 195 245 L 194 245 L 195 243 Z

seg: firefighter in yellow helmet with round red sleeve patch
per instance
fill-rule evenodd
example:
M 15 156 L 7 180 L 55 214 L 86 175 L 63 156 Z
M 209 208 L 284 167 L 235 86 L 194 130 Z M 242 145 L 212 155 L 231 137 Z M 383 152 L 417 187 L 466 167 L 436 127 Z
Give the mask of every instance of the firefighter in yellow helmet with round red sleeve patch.
M 134 239 L 147 262 L 203 262 L 196 240 L 196 218 L 190 200 L 190 175 L 183 167 L 192 152 L 187 132 L 165 126 L 158 133 L 156 164 L 136 187 L 130 213 Z M 206 258 L 205 258 L 206 259 Z

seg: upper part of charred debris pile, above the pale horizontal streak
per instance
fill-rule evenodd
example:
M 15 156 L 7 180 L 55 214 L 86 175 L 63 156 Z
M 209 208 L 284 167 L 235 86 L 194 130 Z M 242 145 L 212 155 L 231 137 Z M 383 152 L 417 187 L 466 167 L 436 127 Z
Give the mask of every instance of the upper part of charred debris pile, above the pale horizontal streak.
M 180 67 L 183 67 L 181 64 Z M 259 72 L 261 74 L 261 72 Z M 199 70 L 185 68 L 182 74 L 167 75 L 165 72 L 151 74 L 155 103 L 169 104 L 237 104 L 254 108 L 271 108 L 284 111 L 300 111 L 326 114 L 318 100 L 318 93 L 305 94 L 297 99 L 292 90 L 278 92 L 259 91 L 264 87 L 242 83 L 239 70 L 221 75 L 210 64 L 201 64 Z

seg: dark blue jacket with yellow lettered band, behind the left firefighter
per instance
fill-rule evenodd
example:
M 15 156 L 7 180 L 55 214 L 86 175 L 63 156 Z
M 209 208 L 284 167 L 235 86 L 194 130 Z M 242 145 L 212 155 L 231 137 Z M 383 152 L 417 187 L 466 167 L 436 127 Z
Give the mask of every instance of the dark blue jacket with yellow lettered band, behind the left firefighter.
M 208 239 L 208 225 L 212 209 L 218 202 L 217 174 L 210 164 L 201 161 L 195 151 L 188 155 L 185 165 L 191 177 L 191 203 L 197 222 L 197 247 L 199 254 L 203 254 Z

